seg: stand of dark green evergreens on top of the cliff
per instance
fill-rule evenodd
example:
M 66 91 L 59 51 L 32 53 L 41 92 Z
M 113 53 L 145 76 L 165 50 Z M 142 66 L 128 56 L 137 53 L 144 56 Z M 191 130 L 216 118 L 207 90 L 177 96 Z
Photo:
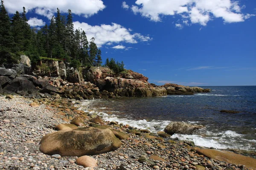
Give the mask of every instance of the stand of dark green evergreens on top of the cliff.
M 57 8 L 56 16 L 40 30 L 27 23 L 26 9 L 9 17 L 3 0 L 0 4 L 0 64 L 13 62 L 15 54 L 25 54 L 32 62 L 40 57 L 61 59 L 78 67 L 102 65 L 101 50 L 95 38 L 90 42 L 84 30 L 74 30 L 73 16 L 69 9 L 67 17 Z M 18 55 L 16 55 L 17 57 Z

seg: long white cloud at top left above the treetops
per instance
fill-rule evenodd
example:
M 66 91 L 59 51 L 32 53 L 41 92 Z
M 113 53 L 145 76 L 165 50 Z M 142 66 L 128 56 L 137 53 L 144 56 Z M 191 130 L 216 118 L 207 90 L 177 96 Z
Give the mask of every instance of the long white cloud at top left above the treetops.
M 22 11 L 22 7 L 26 11 L 35 9 L 35 13 L 51 18 L 57 11 L 67 12 L 71 9 L 73 14 L 81 15 L 83 17 L 90 17 L 102 11 L 106 6 L 102 0 L 7 0 L 5 7 L 9 13 L 14 14 L 15 11 Z

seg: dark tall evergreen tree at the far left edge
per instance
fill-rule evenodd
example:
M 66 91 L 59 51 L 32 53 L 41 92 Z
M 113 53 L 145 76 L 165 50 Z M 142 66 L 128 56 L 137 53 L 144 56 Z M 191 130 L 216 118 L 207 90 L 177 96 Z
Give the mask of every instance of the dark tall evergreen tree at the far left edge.
M 16 52 L 17 46 L 11 34 L 10 18 L 1 0 L 0 5 L 0 51 Z

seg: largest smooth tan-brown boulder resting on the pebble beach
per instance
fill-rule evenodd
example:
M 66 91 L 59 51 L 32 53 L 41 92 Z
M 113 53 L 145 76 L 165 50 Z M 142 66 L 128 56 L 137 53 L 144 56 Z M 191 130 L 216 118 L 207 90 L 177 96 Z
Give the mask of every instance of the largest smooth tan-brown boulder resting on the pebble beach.
M 39 149 L 44 154 L 61 156 L 97 155 L 115 150 L 122 144 L 111 130 L 94 127 L 49 133 L 40 143 Z

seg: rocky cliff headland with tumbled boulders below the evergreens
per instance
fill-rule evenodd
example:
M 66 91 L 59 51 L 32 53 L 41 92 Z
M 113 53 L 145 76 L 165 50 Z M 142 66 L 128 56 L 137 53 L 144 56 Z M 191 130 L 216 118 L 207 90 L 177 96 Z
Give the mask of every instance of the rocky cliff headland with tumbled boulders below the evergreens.
M 66 67 L 64 62 L 53 60 L 38 62 L 32 72 L 30 60 L 26 56 L 21 56 L 20 64 L 6 66 L 8 68 L 0 68 L 0 93 L 14 92 L 38 98 L 93 99 L 209 92 L 209 89 L 177 84 L 157 86 L 150 84 L 148 77 L 131 70 L 120 74 L 115 74 L 107 67 L 90 67 L 78 71 Z

